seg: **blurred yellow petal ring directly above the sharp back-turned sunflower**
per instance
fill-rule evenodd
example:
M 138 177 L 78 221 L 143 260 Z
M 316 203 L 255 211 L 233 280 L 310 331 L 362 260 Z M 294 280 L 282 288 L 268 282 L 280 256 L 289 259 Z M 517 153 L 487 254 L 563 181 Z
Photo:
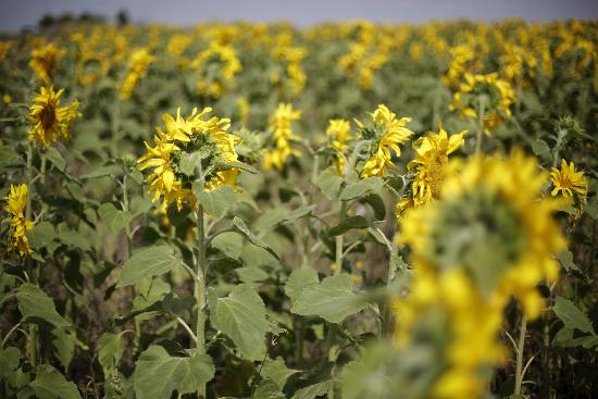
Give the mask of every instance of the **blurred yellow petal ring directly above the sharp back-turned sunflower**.
M 219 77 L 205 78 L 205 66 L 212 60 L 222 62 Z M 210 46 L 200 52 L 191 62 L 191 67 L 200 72 L 201 77 L 197 83 L 197 90 L 200 95 L 219 98 L 222 93 L 235 83 L 235 75 L 241 70 L 241 63 L 237 58 L 235 49 L 229 45 L 222 45 L 216 40 L 210 42 Z

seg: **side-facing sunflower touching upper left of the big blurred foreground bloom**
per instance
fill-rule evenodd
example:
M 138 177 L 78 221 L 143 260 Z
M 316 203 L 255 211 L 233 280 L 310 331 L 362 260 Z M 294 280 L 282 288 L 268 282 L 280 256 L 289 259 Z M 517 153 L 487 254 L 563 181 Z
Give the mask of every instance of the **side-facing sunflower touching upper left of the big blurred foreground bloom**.
M 462 130 L 449 137 L 440 124 L 437 134 L 432 133 L 413 142 L 416 155 L 407 167 L 418 167 L 418 175 L 413 179 L 413 204 L 416 208 L 429 203 L 433 198 L 438 198 L 445 179 L 448 155 L 463 146 L 463 136 L 466 133 Z

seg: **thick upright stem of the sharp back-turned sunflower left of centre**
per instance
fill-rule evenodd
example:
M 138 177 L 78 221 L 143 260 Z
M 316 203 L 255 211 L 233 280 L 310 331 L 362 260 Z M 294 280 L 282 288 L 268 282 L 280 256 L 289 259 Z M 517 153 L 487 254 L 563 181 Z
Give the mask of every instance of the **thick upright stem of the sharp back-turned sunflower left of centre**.
M 196 342 L 197 353 L 205 352 L 205 319 L 203 310 L 205 308 L 205 226 L 203 220 L 203 207 L 200 204 L 197 210 L 197 229 L 198 229 L 198 248 L 196 262 L 195 278 L 195 297 L 197 301 L 197 320 L 196 320 Z M 199 398 L 205 398 L 205 384 L 198 387 Z

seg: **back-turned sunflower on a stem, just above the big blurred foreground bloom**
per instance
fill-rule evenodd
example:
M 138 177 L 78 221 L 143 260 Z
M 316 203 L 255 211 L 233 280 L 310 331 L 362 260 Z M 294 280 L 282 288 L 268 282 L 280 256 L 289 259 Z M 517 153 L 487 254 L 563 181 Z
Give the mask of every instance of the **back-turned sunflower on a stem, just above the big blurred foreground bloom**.
M 507 80 L 499 79 L 498 74 L 465 74 L 449 109 L 458 110 L 462 116 L 477 120 L 483 102 L 483 128 L 489 135 L 502 123 L 503 115 L 511 116 L 514 100 L 513 88 Z

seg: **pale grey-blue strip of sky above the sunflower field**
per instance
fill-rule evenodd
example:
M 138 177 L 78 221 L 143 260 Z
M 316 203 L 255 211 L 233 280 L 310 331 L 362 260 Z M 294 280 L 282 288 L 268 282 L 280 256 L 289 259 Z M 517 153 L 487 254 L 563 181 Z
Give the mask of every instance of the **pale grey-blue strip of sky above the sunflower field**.
M 91 12 L 110 18 L 125 9 L 134 22 L 192 25 L 205 21 L 323 21 L 363 18 L 422 23 L 429 20 L 528 21 L 598 18 L 598 0 L 0 0 L 0 30 L 34 27 L 46 13 Z

